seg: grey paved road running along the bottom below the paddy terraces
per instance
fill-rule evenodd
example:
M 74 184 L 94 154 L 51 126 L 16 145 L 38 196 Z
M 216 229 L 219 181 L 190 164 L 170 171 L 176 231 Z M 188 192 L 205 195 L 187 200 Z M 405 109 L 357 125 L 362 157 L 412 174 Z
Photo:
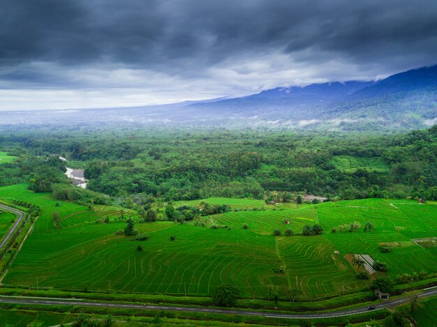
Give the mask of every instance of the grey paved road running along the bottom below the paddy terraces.
M 420 298 L 437 295 L 437 287 L 431 289 L 423 289 L 419 295 Z M 385 301 L 375 305 L 375 310 L 385 309 L 387 307 L 396 307 L 408 302 L 408 297 L 396 298 L 394 300 Z M 67 298 L 35 298 L 35 297 L 18 297 L 18 296 L 0 296 L 0 303 L 21 303 L 21 304 L 36 304 L 36 305 L 81 305 L 86 307 L 114 307 L 121 309 L 139 309 L 139 310 L 172 310 L 184 312 L 203 312 L 214 314 L 244 314 L 249 316 L 273 317 L 273 318 L 288 318 L 288 319 L 315 319 L 328 317 L 343 317 L 351 314 L 360 314 L 369 312 L 367 307 L 359 307 L 350 310 L 339 310 L 334 312 L 320 312 L 320 313 L 302 313 L 302 314 L 288 314 L 277 312 L 262 312 L 262 311 L 246 311 L 246 310 L 225 310 L 216 309 L 214 307 L 179 307 L 179 306 L 165 306 L 165 305 L 138 305 L 129 303 L 115 303 L 115 302 L 87 302 L 77 299 Z

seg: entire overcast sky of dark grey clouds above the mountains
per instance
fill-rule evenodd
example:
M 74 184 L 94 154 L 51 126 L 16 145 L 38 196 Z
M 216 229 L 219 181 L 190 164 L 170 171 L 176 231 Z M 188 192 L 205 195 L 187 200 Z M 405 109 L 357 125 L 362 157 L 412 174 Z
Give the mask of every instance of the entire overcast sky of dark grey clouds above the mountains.
M 437 63 L 436 0 L 0 0 L 0 110 L 123 107 Z

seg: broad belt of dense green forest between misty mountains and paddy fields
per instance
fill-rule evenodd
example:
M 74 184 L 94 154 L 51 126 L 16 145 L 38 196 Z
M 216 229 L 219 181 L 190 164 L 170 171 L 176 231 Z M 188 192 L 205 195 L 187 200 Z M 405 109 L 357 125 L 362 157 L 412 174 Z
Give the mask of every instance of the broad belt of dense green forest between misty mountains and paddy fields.
M 403 135 L 242 130 L 25 132 L 0 137 L 20 158 L 0 165 L 0 184 L 30 183 L 59 199 L 142 205 L 211 196 L 263 199 L 272 191 L 328 198 L 437 199 L 437 128 Z M 63 155 L 85 169 L 89 190 L 71 190 Z M 370 162 L 343 169 L 335 158 Z M 384 167 L 372 167 L 373 160 Z M 375 161 L 376 162 L 376 161 Z

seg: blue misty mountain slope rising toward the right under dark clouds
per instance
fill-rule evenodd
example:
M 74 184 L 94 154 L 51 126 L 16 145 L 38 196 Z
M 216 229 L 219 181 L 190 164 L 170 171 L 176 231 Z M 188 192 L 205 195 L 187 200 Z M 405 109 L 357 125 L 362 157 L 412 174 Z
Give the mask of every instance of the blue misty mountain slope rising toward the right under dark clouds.
M 284 87 L 253 96 L 194 103 L 188 116 L 228 116 L 231 126 L 406 131 L 437 121 L 437 66 L 408 70 L 378 82 Z M 194 109 L 195 108 L 195 109 Z

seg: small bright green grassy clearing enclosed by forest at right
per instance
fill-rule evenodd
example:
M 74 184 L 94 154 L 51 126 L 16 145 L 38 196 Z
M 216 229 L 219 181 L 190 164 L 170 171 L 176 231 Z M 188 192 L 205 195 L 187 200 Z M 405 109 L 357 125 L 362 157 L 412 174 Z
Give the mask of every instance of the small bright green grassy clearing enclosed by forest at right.
M 350 155 L 336 155 L 329 162 L 336 169 L 345 172 L 355 172 L 358 168 L 374 170 L 377 172 L 386 172 L 389 166 L 381 158 L 363 158 L 353 157 Z

